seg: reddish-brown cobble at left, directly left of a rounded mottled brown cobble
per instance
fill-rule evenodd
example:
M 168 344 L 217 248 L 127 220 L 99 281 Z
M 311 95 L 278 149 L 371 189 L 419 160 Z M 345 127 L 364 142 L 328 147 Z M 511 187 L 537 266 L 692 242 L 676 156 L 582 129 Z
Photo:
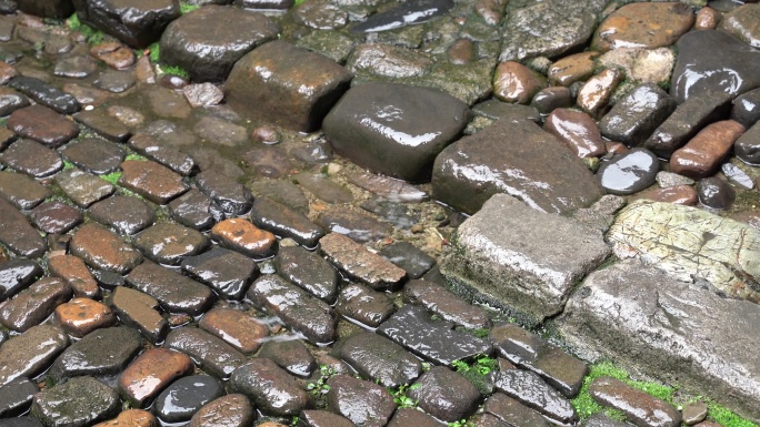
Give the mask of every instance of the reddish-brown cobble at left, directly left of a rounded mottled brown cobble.
M 142 255 L 116 234 L 97 223 L 82 225 L 71 240 L 71 253 L 93 268 L 127 273 L 142 262 Z

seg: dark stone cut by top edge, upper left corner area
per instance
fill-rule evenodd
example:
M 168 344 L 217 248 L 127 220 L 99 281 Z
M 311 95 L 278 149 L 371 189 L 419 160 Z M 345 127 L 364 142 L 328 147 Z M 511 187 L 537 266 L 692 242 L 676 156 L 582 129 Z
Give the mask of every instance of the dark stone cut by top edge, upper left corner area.
M 80 21 L 142 49 L 158 41 L 169 22 L 180 17 L 176 0 L 73 0 Z

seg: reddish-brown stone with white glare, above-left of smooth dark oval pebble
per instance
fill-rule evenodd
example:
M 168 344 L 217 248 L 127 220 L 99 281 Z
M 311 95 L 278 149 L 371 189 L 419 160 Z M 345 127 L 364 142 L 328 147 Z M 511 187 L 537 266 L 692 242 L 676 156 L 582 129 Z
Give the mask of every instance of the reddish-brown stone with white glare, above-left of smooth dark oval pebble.
M 597 157 L 607 152 L 597 122 L 586 113 L 557 109 L 547 118 L 543 130 L 557 136 L 579 157 Z

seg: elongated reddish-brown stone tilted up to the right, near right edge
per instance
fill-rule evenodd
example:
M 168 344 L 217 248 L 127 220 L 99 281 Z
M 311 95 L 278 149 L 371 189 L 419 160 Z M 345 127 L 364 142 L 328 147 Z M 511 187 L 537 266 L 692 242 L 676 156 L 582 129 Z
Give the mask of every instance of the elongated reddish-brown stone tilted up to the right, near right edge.
M 733 120 L 709 124 L 673 152 L 671 172 L 696 180 L 712 175 L 744 131 L 744 126 Z

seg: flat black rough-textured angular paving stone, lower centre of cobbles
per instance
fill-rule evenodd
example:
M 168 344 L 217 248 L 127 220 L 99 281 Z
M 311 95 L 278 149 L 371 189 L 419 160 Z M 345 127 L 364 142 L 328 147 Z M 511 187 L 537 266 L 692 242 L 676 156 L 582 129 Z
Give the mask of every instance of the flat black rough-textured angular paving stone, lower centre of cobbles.
M 377 332 L 427 360 L 447 366 L 454 360 L 491 354 L 491 343 L 452 328 L 452 323 L 432 321 L 424 308 L 407 305 Z

